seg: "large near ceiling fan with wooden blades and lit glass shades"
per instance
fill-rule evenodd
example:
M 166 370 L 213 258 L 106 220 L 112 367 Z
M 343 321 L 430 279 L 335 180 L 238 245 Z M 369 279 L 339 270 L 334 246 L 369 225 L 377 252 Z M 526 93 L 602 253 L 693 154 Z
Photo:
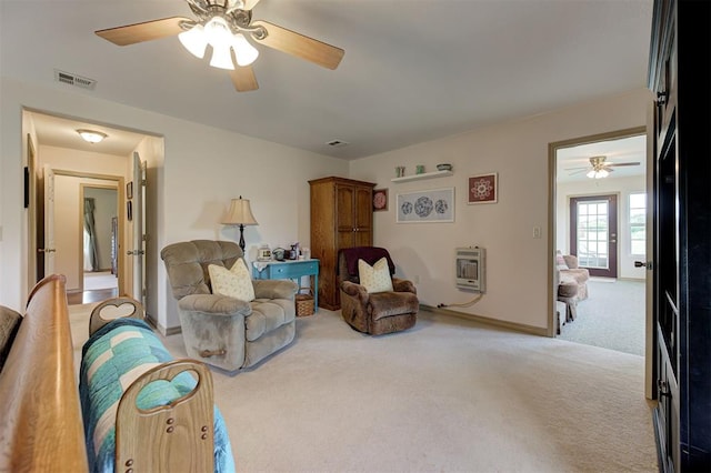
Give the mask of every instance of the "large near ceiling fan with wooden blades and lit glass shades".
M 197 20 L 171 17 L 109 28 L 96 31 L 96 33 L 118 46 L 178 36 L 183 47 L 200 59 L 204 57 L 207 47 L 211 46 L 212 59 L 210 66 L 229 70 L 232 83 L 238 92 L 259 89 L 251 67 L 259 56 L 259 50 L 247 40 L 247 37 L 257 43 L 306 59 L 331 70 L 338 68 L 346 53 L 341 48 L 327 44 L 268 21 L 252 21 L 252 8 L 259 0 L 186 1 Z M 237 66 L 234 62 L 237 62 Z

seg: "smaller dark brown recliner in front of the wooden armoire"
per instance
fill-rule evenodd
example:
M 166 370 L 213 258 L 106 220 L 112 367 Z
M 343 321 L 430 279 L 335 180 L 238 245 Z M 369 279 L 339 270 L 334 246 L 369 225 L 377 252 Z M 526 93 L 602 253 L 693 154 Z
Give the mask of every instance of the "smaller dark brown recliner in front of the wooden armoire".
M 375 268 L 383 258 L 387 261 L 385 276 L 390 278 L 392 288 L 369 292 L 369 289 L 361 284 L 359 260 L 370 268 Z M 341 316 L 349 325 L 359 332 L 380 335 L 407 330 L 415 324 L 420 303 L 414 284 L 404 279 L 393 278 L 394 272 L 395 265 L 384 248 L 357 246 L 339 251 Z

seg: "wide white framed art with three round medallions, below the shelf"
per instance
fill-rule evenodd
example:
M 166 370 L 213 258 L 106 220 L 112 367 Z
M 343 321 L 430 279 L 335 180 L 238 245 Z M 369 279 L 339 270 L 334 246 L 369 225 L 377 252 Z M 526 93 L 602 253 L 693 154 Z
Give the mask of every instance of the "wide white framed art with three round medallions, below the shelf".
M 398 223 L 454 221 L 454 188 L 398 194 Z

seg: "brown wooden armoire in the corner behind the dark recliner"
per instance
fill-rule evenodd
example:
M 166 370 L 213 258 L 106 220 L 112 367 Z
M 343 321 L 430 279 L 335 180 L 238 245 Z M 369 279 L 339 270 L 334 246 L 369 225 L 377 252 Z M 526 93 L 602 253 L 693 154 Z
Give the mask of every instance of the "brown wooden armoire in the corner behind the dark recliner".
M 336 280 L 338 251 L 373 244 L 372 182 L 329 177 L 311 187 L 311 258 L 319 265 L 319 306 L 341 309 Z

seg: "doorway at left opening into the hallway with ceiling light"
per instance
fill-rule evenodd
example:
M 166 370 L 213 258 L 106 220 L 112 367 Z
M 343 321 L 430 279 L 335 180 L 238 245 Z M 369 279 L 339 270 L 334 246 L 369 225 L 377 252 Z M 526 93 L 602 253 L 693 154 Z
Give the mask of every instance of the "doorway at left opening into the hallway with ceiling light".
M 28 153 L 32 154 L 32 160 L 29 161 L 28 174 L 30 189 L 36 189 L 36 192 L 30 193 L 30 211 L 28 212 L 29 228 L 36 227 L 36 231 L 30 232 L 28 245 L 28 268 L 30 269 L 28 278 L 30 284 L 34 284 L 46 275 L 48 260 L 48 258 L 44 258 L 46 255 L 51 256 L 49 260 L 67 259 L 67 256 L 61 256 L 53 245 L 48 245 L 46 242 L 48 232 L 51 233 L 52 230 L 47 228 L 46 219 L 48 215 L 44 212 L 46 202 L 49 200 L 44 189 L 48 182 L 44 177 L 44 170 L 50 168 L 57 171 L 52 175 L 57 174 L 61 178 L 73 177 L 74 179 L 83 180 L 81 188 L 79 184 L 72 188 L 73 193 L 70 199 L 61 205 L 60 211 L 62 212 L 69 208 L 77 209 L 79 205 L 83 208 L 84 193 L 91 193 L 93 188 L 109 187 L 114 192 L 114 203 L 111 207 L 114 209 L 112 217 L 116 220 L 109 223 L 111 230 L 106 231 L 114 240 L 107 242 L 102 239 L 101 243 L 98 244 L 99 249 L 103 249 L 106 252 L 100 258 L 99 266 L 97 268 L 99 271 L 91 272 L 97 274 L 108 272 L 116 280 L 116 285 L 111 278 L 98 278 L 91 282 L 80 278 L 86 272 L 83 219 L 80 221 L 79 217 L 77 217 L 71 224 L 66 220 L 59 220 L 60 231 L 68 230 L 72 234 L 76 233 L 76 238 L 71 239 L 71 256 L 69 256 L 69 263 L 67 263 L 71 268 L 72 276 L 76 274 L 71 288 L 68 283 L 68 290 L 73 290 L 68 293 L 69 302 L 89 303 L 114 295 L 132 296 L 131 284 L 133 276 L 131 271 L 133 264 L 127 261 L 126 253 L 131 249 L 130 236 L 133 225 L 130 224 L 131 222 L 127 223 L 127 204 L 130 199 L 127 199 L 126 182 L 133 180 L 131 170 L 133 167 L 132 155 L 136 154 L 136 150 L 143 147 L 147 150 L 160 151 L 162 150 L 162 138 L 89 123 L 81 119 L 51 115 L 39 110 L 29 109 L 23 110 L 23 123 L 30 124 L 26 131 Z M 80 139 L 76 131 L 78 129 L 99 129 L 108 135 L 108 139 L 101 143 L 90 144 Z M 157 157 L 152 152 L 147 152 L 147 154 Z M 158 159 L 162 159 L 162 155 L 158 155 Z M 108 181 L 104 182 L 102 180 Z M 51 188 L 54 189 L 56 185 L 52 184 Z M 83 209 L 77 213 L 83 214 Z M 113 254 L 110 254 L 111 252 Z M 107 253 L 109 254 L 107 255 Z M 36 260 L 37 263 L 34 264 Z M 40 262 L 44 264 L 40 265 Z M 112 283 L 111 288 L 107 286 L 108 282 Z M 88 290 L 84 291 L 84 289 Z

